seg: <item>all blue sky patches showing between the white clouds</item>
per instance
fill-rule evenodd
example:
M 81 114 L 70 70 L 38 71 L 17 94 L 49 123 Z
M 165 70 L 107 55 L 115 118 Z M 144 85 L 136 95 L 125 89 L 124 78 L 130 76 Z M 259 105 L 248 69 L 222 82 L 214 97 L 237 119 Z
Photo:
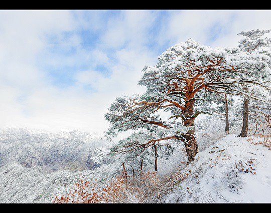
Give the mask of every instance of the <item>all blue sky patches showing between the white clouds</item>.
M 121 42 L 122 38 L 117 38 L 120 41 L 116 46 L 104 45 L 103 35 L 106 34 L 107 26 L 114 26 L 112 20 L 116 22 L 125 22 L 125 13 L 123 11 L 71 11 L 71 16 L 77 22 L 86 22 L 87 26 L 78 26 L 69 31 L 63 31 L 60 34 L 47 34 L 45 42 L 48 44 L 47 48 L 40 52 L 37 57 L 37 66 L 48 72 L 52 78 L 52 83 L 56 86 L 66 87 L 76 83 L 76 73 L 82 70 L 96 70 L 106 76 L 110 76 L 110 66 L 112 63 L 118 63 L 115 58 L 116 51 L 131 48 L 129 47 L 130 40 L 139 39 L 142 42 L 142 48 L 149 49 L 154 55 L 159 56 L 168 47 L 174 45 L 178 39 L 165 36 L 165 28 L 171 21 L 171 16 L 175 13 L 182 14 L 182 11 L 146 11 L 150 23 L 137 22 L 133 28 L 140 28 L 146 25 L 144 29 L 145 39 L 137 38 L 137 35 L 130 35 L 132 38 L 127 38 Z M 80 14 L 80 17 L 79 15 Z M 136 15 L 134 15 L 136 16 Z M 232 13 L 227 18 L 229 22 L 234 20 L 236 14 Z M 145 20 L 141 20 L 145 21 Z M 95 24 L 93 24 L 95 22 Z M 212 45 L 221 34 L 225 32 L 225 23 L 213 21 L 207 28 L 207 39 L 204 40 L 206 45 Z M 176 26 L 180 27 L 180 26 Z M 209 30 L 208 30 L 209 29 Z M 191 35 L 193 37 L 193 35 Z M 141 35 L 138 35 L 141 37 Z M 77 39 L 72 43 L 73 39 Z M 187 37 L 188 38 L 188 37 Z M 110 60 L 109 64 L 104 64 L 91 57 L 90 53 L 93 50 L 100 50 L 106 54 Z M 82 52 L 84 54 L 82 54 Z M 80 58 L 80 60 L 71 63 L 61 63 L 62 58 Z M 59 60 L 57 63 L 51 63 L 52 60 Z M 72 61 L 72 60 L 71 60 Z M 85 87 L 91 89 L 91 87 Z

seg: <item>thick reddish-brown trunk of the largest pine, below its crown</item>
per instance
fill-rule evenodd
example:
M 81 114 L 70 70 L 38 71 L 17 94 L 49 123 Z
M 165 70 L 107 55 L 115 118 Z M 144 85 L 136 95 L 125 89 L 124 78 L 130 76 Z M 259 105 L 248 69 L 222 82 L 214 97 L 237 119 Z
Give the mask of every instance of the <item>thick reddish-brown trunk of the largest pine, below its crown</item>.
M 188 97 L 188 101 L 185 105 L 185 120 L 184 125 L 186 127 L 192 127 L 187 131 L 185 138 L 185 149 L 188 157 L 188 163 L 195 160 L 195 155 L 199 152 L 198 143 L 196 138 L 194 137 L 195 133 L 195 118 L 192 116 L 194 114 L 194 99 Z

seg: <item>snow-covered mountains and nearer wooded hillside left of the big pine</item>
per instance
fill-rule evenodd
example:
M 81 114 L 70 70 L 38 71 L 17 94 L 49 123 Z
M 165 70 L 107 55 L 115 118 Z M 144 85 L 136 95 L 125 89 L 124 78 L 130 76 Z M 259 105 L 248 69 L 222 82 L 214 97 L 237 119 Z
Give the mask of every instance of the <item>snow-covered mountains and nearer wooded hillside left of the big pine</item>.
M 90 177 L 98 166 L 92 151 L 103 144 L 98 135 L 79 131 L 0 131 L 0 202 L 51 202 L 79 177 Z

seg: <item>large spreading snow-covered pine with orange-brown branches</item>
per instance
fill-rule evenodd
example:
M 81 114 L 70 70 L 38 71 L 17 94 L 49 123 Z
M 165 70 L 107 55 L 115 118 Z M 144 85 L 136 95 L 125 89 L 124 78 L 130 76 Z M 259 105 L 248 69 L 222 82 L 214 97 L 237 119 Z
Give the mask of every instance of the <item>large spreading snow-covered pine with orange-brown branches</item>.
M 144 151 L 158 141 L 178 140 L 184 142 L 188 162 L 198 153 L 194 122 L 206 111 L 195 106 L 205 92 L 246 95 L 234 85 L 260 85 L 258 79 L 251 78 L 254 72 L 270 73 L 270 57 L 265 54 L 239 48 L 210 48 L 191 39 L 167 49 L 158 60 L 157 65 L 143 69 L 139 84 L 147 87 L 146 93 L 120 97 L 112 103 L 105 114 L 111 124 L 107 135 L 146 129 L 155 132 L 155 137 L 123 147 L 127 151 Z M 161 111 L 171 115 L 163 121 Z

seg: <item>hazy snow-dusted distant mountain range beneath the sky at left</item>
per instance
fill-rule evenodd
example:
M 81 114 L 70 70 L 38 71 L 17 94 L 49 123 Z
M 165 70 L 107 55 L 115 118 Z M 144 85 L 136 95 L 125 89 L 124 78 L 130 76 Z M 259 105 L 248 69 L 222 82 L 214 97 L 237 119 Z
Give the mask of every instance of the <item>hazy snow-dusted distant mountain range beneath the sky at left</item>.
M 9 128 L 0 131 L 0 166 L 17 161 L 24 167 L 71 171 L 97 167 L 90 158 L 104 141 L 98 135 L 71 131 L 48 133 L 43 130 Z

